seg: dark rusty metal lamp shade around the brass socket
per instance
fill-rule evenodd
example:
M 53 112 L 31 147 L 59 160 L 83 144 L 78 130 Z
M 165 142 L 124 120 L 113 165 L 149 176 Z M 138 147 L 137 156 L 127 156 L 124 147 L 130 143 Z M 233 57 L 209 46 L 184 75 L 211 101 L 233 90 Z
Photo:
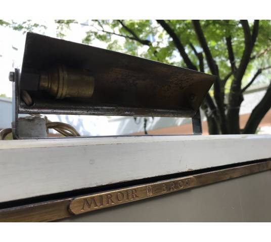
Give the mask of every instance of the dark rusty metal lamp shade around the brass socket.
M 55 100 L 38 90 L 37 76 L 59 65 L 91 73 L 93 96 Z M 27 33 L 20 86 L 34 105 L 20 102 L 19 112 L 193 117 L 214 80 L 185 68 Z

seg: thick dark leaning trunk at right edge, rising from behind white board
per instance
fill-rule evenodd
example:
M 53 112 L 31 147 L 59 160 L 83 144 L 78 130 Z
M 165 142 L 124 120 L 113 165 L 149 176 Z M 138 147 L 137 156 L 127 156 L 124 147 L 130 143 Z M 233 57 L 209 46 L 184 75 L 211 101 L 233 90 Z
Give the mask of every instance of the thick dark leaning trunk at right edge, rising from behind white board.
M 271 108 L 271 81 L 261 101 L 251 112 L 248 122 L 246 123 L 244 134 L 255 134 L 261 119 Z

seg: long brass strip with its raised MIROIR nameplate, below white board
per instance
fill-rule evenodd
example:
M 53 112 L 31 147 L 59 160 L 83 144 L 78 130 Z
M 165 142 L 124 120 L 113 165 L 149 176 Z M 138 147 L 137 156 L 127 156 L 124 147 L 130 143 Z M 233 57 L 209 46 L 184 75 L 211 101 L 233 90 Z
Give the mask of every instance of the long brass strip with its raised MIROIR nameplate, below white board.
M 81 214 L 124 203 L 139 201 L 268 169 L 271 169 L 271 161 L 206 172 L 193 176 L 168 179 L 87 196 L 2 209 L 0 210 L 0 222 L 53 221 L 72 216 L 73 214 Z

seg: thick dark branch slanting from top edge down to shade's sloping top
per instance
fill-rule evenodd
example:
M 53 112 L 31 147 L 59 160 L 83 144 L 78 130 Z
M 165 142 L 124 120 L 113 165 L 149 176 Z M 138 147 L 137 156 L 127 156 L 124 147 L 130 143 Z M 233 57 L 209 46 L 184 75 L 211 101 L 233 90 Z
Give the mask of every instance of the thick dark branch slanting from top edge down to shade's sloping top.
M 197 70 L 196 66 L 191 62 L 191 59 L 188 57 L 188 54 L 186 53 L 185 47 L 176 35 L 176 33 L 173 31 L 173 29 L 164 21 L 164 20 L 156 20 L 157 23 L 159 23 L 162 28 L 168 33 L 168 35 L 172 38 L 176 48 L 178 49 L 180 55 L 183 57 L 185 64 L 189 69 Z

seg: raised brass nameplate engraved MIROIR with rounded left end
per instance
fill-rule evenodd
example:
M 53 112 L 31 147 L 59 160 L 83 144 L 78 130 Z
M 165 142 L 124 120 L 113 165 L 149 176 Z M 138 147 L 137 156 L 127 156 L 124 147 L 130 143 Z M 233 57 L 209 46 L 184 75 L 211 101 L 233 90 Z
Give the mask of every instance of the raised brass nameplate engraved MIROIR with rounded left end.
M 94 211 L 119 204 L 134 202 L 196 186 L 196 178 L 187 176 L 141 186 L 118 189 L 104 193 L 75 198 L 69 210 L 73 214 Z

